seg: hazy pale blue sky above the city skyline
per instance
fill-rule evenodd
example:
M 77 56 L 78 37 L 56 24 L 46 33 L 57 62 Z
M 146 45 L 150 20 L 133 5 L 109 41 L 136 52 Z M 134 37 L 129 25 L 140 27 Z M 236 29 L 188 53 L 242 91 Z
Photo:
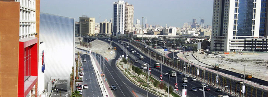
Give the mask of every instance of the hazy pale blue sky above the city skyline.
M 113 2 L 116 0 L 40 0 L 40 12 L 71 17 L 79 21 L 79 17 L 87 15 L 95 17 L 96 22 L 110 21 Z M 205 19 L 205 25 L 212 23 L 213 0 L 125 0 L 134 5 L 134 24 L 161 25 L 182 27 L 186 22 Z M 101 16 L 99 18 L 99 16 Z

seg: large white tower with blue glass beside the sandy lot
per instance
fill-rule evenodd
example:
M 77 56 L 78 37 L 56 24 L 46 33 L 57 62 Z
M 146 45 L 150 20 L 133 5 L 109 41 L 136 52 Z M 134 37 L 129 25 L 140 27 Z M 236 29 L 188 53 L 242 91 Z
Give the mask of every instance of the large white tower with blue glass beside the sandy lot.
M 210 49 L 268 51 L 266 12 L 262 0 L 215 0 Z

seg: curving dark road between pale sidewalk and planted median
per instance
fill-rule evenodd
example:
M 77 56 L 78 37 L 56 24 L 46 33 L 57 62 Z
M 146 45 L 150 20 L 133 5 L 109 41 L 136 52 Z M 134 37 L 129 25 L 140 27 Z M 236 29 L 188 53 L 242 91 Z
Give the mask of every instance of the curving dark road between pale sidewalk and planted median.
M 115 97 L 145 97 L 147 96 L 147 91 L 142 89 L 141 87 L 133 84 L 126 76 L 121 72 L 120 69 L 116 66 L 116 61 L 120 57 L 118 54 L 114 60 L 107 61 L 105 60 L 105 77 L 107 78 L 107 82 L 109 85 L 115 85 L 117 90 L 112 91 Z M 96 54 L 96 58 L 98 59 L 98 54 Z M 103 69 L 103 56 L 99 55 L 99 61 L 101 64 L 101 68 Z M 136 95 L 135 95 L 135 94 Z M 149 92 L 149 97 L 158 97 Z

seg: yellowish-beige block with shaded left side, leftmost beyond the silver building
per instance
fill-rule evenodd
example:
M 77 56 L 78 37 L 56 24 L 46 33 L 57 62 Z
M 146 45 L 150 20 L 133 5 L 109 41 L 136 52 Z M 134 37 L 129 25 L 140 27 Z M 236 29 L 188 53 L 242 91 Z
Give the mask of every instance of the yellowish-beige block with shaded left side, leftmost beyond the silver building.
M 80 21 L 80 35 L 95 35 L 95 18 L 82 16 Z

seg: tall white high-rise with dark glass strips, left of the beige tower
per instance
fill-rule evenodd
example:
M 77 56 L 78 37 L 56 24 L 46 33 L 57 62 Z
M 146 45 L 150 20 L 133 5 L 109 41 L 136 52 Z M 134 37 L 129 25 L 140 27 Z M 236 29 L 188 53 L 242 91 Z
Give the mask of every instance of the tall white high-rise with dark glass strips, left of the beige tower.
M 124 34 L 125 29 L 125 2 L 119 0 L 113 3 L 113 33 Z

